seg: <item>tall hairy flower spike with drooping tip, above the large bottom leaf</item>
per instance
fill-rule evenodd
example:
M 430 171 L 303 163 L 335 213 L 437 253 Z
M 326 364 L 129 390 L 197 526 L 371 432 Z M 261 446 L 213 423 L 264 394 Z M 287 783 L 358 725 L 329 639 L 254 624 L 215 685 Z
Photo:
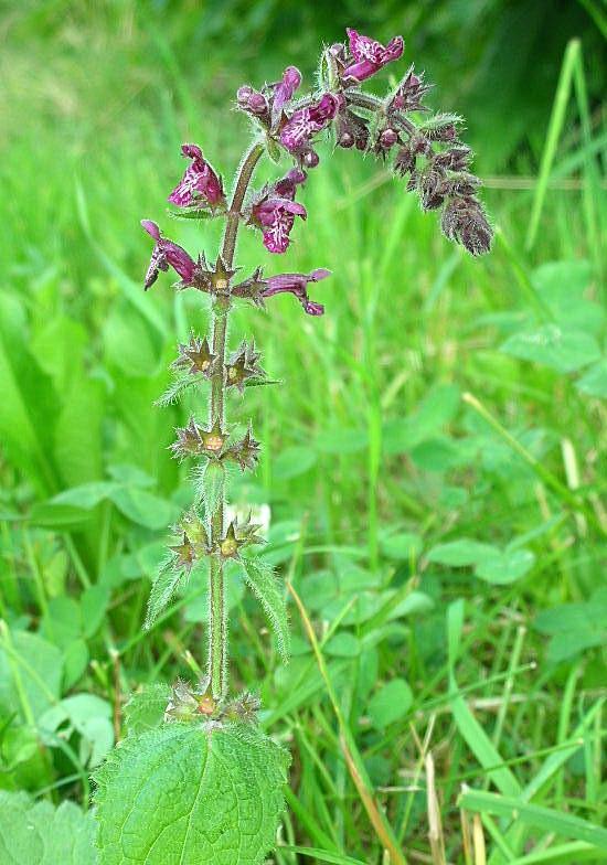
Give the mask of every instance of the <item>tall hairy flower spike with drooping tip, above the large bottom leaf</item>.
M 471 151 L 459 140 L 461 120 L 455 115 L 432 115 L 424 104 L 430 87 L 423 74 L 411 66 L 394 90 L 385 97 L 362 89 L 387 64 L 402 56 L 404 42 L 394 36 L 386 45 L 355 30 L 348 30 L 348 42 L 323 51 L 319 89 L 297 98 L 301 74 L 287 66 L 281 78 L 260 90 L 244 85 L 237 92 L 237 107 L 248 114 L 254 125 L 253 143 L 245 151 L 236 177 L 232 200 L 227 203 L 221 175 L 198 145 L 183 145 L 182 156 L 189 165 L 169 195 L 169 202 L 189 218 L 223 218 L 225 228 L 215 265 L 205 255 L 194 259 L 183 247 L 166 238 L 158 225 L 145 220 L 142 226 L 155 241 L 145 287 L 150 288 L 160 270 L 172 268 L 180 281 L 178 289 L 195 289 L 211 296 L 212 321 L 207 337 L 192 334 L 190 343 L 179 346 L 173 369 L 178 381 L 161 403 L 171 402 L 190 384 L 210 382 L 206 426 L 191 417 L 177 430 L 171 446 L 179 459 L 205 460 L 199 470 L 202 478 L 202 514 L 194 505 L 175 526 L 175 542 L 169 559 L 155 584 L 148 621 L 169 600 L 180 575 L 188 575 L 200 559 L 209 559 L 209 653 L 207 675 L 201 688 L 210 691 L 221 707 L 227 695 L 227 634 L 224 565 L 235 559 L 246 572 L 270 619 L 276 609 L 252 576 L 252 564 L 244 547 L 259 543 L 255 526 L 225 525 L 225 467 L 236 463 L 243 471 L 256 464 L 259 444 L 248 426 L 247 435 L 232 441 L 226 418 L 230 388 L 241 394 L 247 385 L 264 380 L 259 353 L 246 341 L 235 353 L 227 354 L 226 334 L 230 311 L 242 299 L 258 307 L 276 295 L 290 293 L 302 310 L 322 316 L 323 305 L 310 298 L 309 290 L 330 276 L 317 267 L 310 274 L 283 273 L 265 277 L 262 267 L 234 284 L 236 238 L 242 224 L 257 229 L 266 249 L 281 255 L 290 246 L 308 213 L 300 201 L 320 157 L 316 143 L 332 132 L 336 148 L 354 148 L 383 162 L 390 161 L 395 175 L 406 177 L 408 191 L 416 192 L 423 210 L 441 210 L 440 226 L 445 235 L 460 243 L 473 255 L 489 249 L 492 231 L 477 197 L 480 181 L 470 172 Z M 264 153 L 274 161 L 285 158 L 290 168 L 274 183 L 249 191 L 255 168 Z M 175 215 L 179 215 L 175 214 Z M 300 218 L 300 221 L 297 220 Z M 172 576 L 171 576 L 172 575 Z M 219 711 L 219 709 L 217 709 Z

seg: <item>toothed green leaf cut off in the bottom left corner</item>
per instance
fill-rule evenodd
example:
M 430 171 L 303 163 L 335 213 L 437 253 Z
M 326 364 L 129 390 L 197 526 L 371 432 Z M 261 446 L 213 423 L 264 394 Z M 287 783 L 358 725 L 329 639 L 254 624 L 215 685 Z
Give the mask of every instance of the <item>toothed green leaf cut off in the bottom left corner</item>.
M 56 810 L 25 793 L 0 790 L 2 865 L 96 865 L 95 823 L 72 802 Z

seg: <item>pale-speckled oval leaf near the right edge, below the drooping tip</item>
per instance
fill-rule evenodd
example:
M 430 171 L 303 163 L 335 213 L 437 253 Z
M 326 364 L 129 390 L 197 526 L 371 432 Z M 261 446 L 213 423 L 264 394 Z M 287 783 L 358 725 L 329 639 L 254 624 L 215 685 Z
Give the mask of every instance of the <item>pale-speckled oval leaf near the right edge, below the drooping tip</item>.
M 594 337 L 581 330 L 544 324 L 535 331 L 515 333 L 501 351 L 524 361 L 535 361 L 561 373 L 572 373 L 598 361 L 600 349 Z

